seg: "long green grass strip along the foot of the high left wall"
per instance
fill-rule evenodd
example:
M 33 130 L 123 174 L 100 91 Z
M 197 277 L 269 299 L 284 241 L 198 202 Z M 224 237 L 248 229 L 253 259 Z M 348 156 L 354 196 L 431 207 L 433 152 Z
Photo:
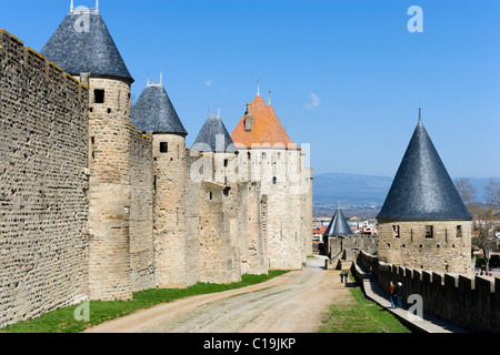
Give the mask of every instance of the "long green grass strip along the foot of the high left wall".
M 42 316 L 6 327 L 8 333 L 80 333 L 96 325 L 122 317 L 140 310 L 151 308 L 176 300 L 223 292 L 259 284 L 288 273 L 289 271 L 270 271 L 269 275 L 243 275 L 242 281 L 229 285 L 198 283 L 188 288 L 148 290 L 133 294 L 131 301 L 91 301 L 89 303 L 89 322 L 78 322 L 74 311 L 79 305 L 48 312 Z

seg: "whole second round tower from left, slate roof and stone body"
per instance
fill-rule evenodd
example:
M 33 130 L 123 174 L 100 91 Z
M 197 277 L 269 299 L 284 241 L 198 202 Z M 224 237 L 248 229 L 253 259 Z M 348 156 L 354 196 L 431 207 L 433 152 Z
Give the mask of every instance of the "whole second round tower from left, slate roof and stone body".
M 186 215 L 188 132 L 160 82 L 150 82 L 132 108 L 132 124 L 150 132 L 154 158 L 156 281 L 161 288 L 196 283 L 189 273 L 189 237 Z M 192 277 L 191 277 L 192 276 Z

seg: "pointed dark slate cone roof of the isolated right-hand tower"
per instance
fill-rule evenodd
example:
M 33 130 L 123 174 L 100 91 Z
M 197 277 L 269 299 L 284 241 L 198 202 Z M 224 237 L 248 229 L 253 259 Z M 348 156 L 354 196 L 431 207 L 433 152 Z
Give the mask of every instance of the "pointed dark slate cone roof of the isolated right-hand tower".
M 419 121 L 378 220 L 472 220 Z

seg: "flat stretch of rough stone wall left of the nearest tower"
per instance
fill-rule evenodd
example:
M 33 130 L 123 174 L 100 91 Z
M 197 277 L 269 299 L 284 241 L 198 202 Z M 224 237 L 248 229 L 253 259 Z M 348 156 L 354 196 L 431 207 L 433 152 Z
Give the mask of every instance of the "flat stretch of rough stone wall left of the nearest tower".
M 88 90 L 0 30 L 0 327 L 88 293 Z

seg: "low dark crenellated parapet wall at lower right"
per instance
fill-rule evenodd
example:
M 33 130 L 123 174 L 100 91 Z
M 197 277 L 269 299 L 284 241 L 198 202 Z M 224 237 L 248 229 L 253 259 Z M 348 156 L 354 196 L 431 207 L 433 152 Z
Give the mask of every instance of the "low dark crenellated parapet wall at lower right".
M 361 252 L 358 262 L 373 273 L 383 290 L 389 282 L 403 284 L 403 301 L 409 295 L 420 295 L 423 313 L 456 324 L 462 328 L 481 332 L 500 332 L 500 278 L 491 281 L 481 276 L 444 274 L 394 266 Z

